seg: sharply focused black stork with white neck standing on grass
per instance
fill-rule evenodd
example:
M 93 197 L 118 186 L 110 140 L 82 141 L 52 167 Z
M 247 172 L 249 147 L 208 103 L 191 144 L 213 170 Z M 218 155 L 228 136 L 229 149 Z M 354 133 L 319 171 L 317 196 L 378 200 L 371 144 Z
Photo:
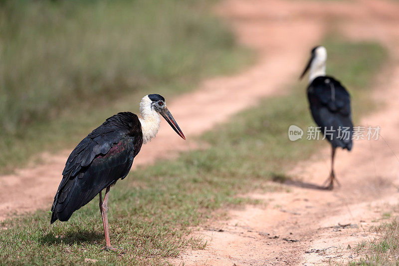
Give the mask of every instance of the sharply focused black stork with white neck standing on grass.
M 68 221 L 73 212 L 99 194 L 105 233 L 104 249 L 113 249 L 107 217 L 110 187 L 128 175 L 142 144 L 155 137 L 161 123 L 159 114 L 186 140 L 161 95 L 146 95 L 141 100 L 140 112 L 141 118 L 131 112 L 111 116 L 72 151 L 51 207 L 51 224 L 57 219 Z M 101 191 L 104 189 L 103 200 Z

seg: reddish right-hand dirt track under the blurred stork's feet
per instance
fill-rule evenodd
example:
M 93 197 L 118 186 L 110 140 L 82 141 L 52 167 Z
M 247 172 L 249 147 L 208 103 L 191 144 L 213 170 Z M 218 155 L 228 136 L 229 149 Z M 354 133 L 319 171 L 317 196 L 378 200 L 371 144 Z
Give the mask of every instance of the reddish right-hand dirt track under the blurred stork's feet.
M 259 32 L 246 31 L 246 24 L 261 28 L 283 19 L 285 27 L 300 24 L 311 28 L 309 22 L 313 21 L 323 30 L 334 20 L 339 21 L 334 27 L 349 38 L 385 44 L 393 64 L 381 74 L 374 95 L 384 107 L 362 119 L 360 125 L 380 126 L 391 148 L 380 138 L 356 141 L 351 153 L 340 151 L 336 174 L 341 187 L 328 192 L 316 186 L 329 174 L 330 150 L 326 143 L 321 155 L 290 172 L 296 181 L 283 185 L 289 192 L 249 195 L 265 200 L 266 206 L 229 211 L 230 219 L 212 222 L 193 234 L 210 243 L 205 250 L 188 250 L 172 262 L 211 266 L 334 265 L 359 259 L 353 248 L 362 240 L 374 239 L 370 226 L 379 224 L 391 204 L 398 204 L 399 160 L 392 152 L 399 154 L 398 3 L 226 0 L 219 11 L 232 19 L 247 40 L 251 36 L 256 39 Z M 302 28 L 301 33 L 306 34 L 307 29 Z M 306 36 L 301 35 L 291 41 L 300 43 L 304 39 Z

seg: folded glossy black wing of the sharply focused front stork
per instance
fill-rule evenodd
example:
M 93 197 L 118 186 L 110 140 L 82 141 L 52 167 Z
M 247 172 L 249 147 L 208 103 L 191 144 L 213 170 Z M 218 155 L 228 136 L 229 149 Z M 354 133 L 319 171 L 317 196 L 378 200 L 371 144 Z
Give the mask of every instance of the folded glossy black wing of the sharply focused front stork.
M 137 115 L 119 113 L 84 138 L 69 155 L 51 208 L 51 223 L 67 221 L 100 191 L 127 176 L 143 144 Z

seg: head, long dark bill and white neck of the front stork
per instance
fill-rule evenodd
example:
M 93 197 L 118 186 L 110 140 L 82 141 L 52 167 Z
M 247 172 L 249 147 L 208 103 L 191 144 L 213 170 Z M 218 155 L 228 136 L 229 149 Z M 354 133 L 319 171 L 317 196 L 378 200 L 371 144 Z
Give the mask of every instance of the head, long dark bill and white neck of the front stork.
M 162 115 L 165 118 L 165 120 L 169 123 L 169 125 L 173 128 L 173 130 L 175 130 L 176 133 L 179 134 L 179 136 L 181 136 L 183 139 L 186 139 L 175 118 L 173 118 L 171 112 L 166 107 L 165 98 L 162 97 L 161 95 L 159 94 L 146 95 L 141 100 L 140 112 L 144 119 L 144 121 L 142 121 L 142 127 L 145 126 L 146 130 L 149 131 L 148 132 L 149 139 L 155 137 L 155 134 L 158 132 L 159 122 L 160 122 L 158 114 Z M 154 116 L 156 116 L 156 118 Z M 143 125 L 143 123 L 145 125 Z M 143 134 L 144 133 L 145 132 L 143 132 Z

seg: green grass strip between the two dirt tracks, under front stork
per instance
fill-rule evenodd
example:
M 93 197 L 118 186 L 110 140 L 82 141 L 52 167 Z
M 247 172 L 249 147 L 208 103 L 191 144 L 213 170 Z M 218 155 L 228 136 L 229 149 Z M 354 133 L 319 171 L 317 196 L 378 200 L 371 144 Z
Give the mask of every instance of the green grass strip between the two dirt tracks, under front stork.
M 364 86 L 370 86 L 380 70 L 384 49 L 375 43 L 331 40 L 325 45 L 329 72 L 344 77 L 353 95 L 365 94 Z M 343 63 L 350 51 L 358 57 Z M 373 64 L 359 68 L 364 57 L 374 58 Z M 353 78 L 359 73 L 366 81 Z M 111 242 L 125 253 L 100 251 L 103 229 L 95 199 L 67 223 L 50 226 L 45 211 L 1 223 L 6 228 L 0 232 L 1 264 L 74 265 L 89 258 L 98 260 L 98 265 L 163 265 L 183 249 L 203 248 L 206 244 L 201 240 L 186 238 L 190 228 L 222 216 L 230 206 L 256 203 L 237 195 L 270 190 L 266 181 L 281 179 L 285 170 L 307 159 L 317 145 L 326 146 L 324 142 L 288 140 L 289 125 L 313 125 L 305 84 L 294 87 L 290 95 L 263 99 L 258 107 L 204 134 L 201 141 L 210 144 L 206 150 L 158 161 L 118 182 L 110 192 Z M 364 110 L 356 106 L 355 113 Z

